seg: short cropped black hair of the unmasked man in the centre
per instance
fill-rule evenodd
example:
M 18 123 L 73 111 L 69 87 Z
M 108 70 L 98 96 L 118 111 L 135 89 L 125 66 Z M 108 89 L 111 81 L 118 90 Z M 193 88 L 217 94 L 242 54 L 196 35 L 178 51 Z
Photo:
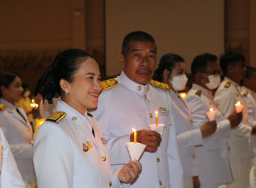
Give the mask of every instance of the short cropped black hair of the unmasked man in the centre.
M 156 44 L 156 41 L 154 38 L 146 33 L 146 32 L 141 32 L 141 31 L 136 31 L 136 32 L 131 32 L 125 36 L 123 39 L 123 44 L 122 44 L 122 54 L 126 56 L 127 52 L 129 51 L 129 43 L 135 41 L 135 42 L 152 42 L 153 44 Z

